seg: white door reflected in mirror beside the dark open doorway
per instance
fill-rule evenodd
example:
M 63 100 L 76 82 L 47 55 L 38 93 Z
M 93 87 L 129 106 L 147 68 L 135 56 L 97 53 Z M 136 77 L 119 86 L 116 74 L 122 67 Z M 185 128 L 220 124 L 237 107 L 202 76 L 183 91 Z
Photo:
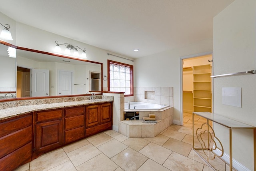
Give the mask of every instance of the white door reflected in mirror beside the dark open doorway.
M 32 97 L 49 96 L 49 70 L 32 69 Z

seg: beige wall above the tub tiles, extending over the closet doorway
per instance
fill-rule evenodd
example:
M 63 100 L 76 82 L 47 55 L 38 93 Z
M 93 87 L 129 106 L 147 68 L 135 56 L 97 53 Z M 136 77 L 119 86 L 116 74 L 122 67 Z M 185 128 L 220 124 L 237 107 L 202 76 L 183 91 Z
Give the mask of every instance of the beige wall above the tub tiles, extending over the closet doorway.
M 212 52 L 212 39 L 202 40 L 184 47 L 159 54 L 138 58 L 134 65 L 134 86 L 173 87 L 173 123 L 180 125 L 180 58 L 184 56 Z

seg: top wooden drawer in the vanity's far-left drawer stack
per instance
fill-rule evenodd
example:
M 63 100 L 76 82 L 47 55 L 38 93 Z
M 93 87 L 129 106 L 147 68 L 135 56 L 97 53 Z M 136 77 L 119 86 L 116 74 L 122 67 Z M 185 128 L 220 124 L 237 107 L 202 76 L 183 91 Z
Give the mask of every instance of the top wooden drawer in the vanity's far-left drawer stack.
M 28 127 L 29 125 L 32 125 L 32 115 L 2 122 L 0 123 L 0 137 L 18 131 L 24 127 Z

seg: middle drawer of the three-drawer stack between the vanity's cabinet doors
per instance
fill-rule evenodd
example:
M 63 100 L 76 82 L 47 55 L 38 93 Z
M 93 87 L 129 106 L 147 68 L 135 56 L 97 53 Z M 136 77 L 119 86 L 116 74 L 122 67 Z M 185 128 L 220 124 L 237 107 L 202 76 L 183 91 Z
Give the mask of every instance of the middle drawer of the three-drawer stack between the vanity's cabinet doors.
M 65 130 L 84 126 L 84 115 L 65 118 Z

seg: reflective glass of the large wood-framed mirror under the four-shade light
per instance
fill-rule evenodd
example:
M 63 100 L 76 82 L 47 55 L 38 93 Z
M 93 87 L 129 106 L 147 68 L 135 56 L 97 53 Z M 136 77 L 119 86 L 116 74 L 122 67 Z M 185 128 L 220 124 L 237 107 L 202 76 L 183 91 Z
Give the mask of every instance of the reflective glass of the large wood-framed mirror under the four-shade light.
M 91 73 L 101 74 L 101 64 L 17 50 L 17 97 L 80 95 L 92 88 Z M 90 86 L 90 87 L 89 87 Z

